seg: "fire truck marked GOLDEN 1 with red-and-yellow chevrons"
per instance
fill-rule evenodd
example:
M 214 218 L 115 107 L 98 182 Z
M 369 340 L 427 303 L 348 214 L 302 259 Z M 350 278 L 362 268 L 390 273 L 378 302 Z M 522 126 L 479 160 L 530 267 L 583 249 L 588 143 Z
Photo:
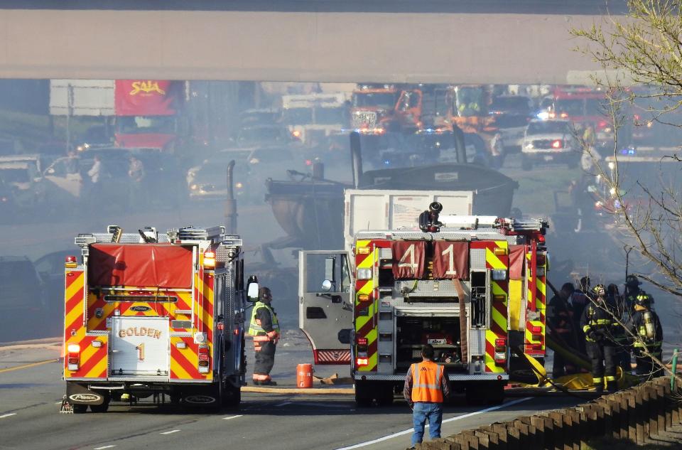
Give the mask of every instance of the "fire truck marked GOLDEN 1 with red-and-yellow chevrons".
M 242 240 L 224 227 L 75 238 L 65 262 L 62 412 L 153 396 L 217 409 L 244 383 Z

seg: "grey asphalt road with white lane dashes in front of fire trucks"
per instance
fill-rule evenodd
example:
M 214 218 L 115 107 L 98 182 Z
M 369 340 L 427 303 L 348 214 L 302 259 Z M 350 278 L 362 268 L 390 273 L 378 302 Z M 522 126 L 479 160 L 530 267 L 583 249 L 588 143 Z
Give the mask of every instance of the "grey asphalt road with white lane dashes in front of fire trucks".
M 280 385 L 293 387 L 296 362 L 309 359 L 301 339 L 291 333 L 278 349 L 273 375 Z M 240 409 L 220 414 L 144 400 L 133 407 L 112 404 L 107 413 L 59 414 L 65 389 L 55 362 L 59 348 L 58 343 L 0 347 L 0 449 L 378 450 L 405 449 L 410 443 L 411 412 L 404 401 L 356 408 L 351 395 L 244 393 Z M 320 369 L 318 375 L 332 371 Z M 455 399 L 445 408 L 443 435 L 577 402 L 522 397 L 485 409 Z

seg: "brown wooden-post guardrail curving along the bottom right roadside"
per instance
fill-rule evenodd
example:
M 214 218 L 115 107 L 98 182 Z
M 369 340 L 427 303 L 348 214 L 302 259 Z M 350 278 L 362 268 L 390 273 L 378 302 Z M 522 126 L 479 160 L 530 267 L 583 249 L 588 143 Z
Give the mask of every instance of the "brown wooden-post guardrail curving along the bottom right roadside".
M 580 450 L 590 439 L 644 444 L 681 421 L 682 390 L 660 377 L 577 407 L 519 417 L 418 444 L 421 450 Z

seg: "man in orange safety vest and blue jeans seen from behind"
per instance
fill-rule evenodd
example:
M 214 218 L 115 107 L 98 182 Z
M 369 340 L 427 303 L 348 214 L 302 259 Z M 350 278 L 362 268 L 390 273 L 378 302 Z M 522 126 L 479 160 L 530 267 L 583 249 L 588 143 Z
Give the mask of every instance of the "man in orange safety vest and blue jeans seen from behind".
M 440 438 L 443 402 L 450 395 L 448 374 L 442 365 L 433 362 L 434 353 L 432 345 L 424 345 L 421 349 L 421 363 L 411 365 L 405 377 L 403 395 L 413 412 L 413 447 L 422 441 L 427 420 L 431 439 Z

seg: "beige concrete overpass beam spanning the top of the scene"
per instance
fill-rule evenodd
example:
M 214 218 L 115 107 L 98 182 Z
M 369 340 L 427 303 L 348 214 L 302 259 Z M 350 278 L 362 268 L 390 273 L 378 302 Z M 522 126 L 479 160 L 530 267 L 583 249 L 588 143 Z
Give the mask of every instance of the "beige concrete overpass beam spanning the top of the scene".
M 565 83 L 617 0 L 4 0 L 0 77 Z

